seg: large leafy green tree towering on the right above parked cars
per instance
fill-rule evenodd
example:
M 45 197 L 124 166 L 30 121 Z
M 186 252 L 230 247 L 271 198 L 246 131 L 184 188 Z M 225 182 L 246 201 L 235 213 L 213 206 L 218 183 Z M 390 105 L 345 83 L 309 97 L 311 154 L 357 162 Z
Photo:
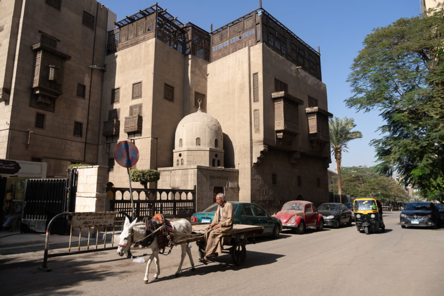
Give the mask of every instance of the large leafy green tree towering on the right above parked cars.
M 374 29 L 354 59 L 346 99 L 357 111 L 380 111 L 377 169 L 397 171 L 429 199 L 444 196 L 444 13 L 401 18 Z

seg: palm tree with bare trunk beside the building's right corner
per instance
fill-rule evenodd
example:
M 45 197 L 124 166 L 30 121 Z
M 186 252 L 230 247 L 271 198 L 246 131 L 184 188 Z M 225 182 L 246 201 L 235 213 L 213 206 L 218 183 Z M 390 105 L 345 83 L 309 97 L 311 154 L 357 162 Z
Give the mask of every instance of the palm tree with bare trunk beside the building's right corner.
M 362 138 L 362 133 L 359 131 L 350 132 L 356 126 L 355 119 L 344 117 L 342 119 L 334 116 L 334 119 L 329 119 L 330 130 L 330 147 L 332 154 L 336 161 L 337 172 L 337 191 L 339 194 L 339 202 L 342 203 L 342 180 L 341 180 L 341 159 L 342 151 L 348 152 L 345 148 L 350 140 Z

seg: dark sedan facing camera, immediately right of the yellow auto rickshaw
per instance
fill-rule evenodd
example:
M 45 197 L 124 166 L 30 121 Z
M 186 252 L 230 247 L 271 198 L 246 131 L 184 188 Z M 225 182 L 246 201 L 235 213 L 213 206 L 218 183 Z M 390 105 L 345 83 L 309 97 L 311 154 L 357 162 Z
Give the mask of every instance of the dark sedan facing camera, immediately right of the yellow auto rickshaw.
M 407 203 L 399 219 L 403 228 L 426 226 L 436 229 L 440 225 L 440 212 L 433 202 L 414 201 Z

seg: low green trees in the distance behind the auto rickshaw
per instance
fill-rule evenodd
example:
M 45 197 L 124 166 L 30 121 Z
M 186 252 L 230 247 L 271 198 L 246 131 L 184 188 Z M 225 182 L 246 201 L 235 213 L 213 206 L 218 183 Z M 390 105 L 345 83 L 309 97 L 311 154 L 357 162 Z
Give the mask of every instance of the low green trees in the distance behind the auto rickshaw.
M 332 177 L 335 181 L 337 176 Z M 337 185 L 330 185 L 335 192 Z M 374 196 L 382 201 L 406 201 L 408 194 L 394 179 L 379 174 L 375 167 L 342 168 L 342 193 L 350 196 Z

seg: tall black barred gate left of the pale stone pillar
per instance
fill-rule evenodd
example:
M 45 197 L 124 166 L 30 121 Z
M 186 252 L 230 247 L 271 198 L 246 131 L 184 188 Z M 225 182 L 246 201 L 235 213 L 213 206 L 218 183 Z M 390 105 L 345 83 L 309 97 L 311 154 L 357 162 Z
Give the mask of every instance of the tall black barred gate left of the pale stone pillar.
M 28 179 L 20 230 L 45 232 L 49 221 L 57 214 L 74 212 L 77 170 L 69 169 L 67 178 Z M 54 222 L 52 232 L 69 233 L 66 217 Z

